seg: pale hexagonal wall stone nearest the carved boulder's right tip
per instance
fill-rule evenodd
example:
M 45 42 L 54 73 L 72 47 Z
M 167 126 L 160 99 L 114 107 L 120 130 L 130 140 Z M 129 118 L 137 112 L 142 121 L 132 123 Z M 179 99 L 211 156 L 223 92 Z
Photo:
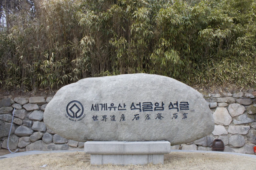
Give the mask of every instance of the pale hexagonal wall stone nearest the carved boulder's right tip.
M 228 126 L 232 118 L 225 107 L 217 107 L 215 112 L 213 113 L 214 123 Z

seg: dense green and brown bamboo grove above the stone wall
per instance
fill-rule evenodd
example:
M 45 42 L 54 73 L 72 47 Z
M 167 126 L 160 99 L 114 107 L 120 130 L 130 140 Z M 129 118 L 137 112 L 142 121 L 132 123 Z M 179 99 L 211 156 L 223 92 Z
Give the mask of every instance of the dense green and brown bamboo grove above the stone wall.
M 254 0 L 20 0 L 7 7 L 2 89 L 56 90 L 133 73 L 190 86 L 256 87 Z

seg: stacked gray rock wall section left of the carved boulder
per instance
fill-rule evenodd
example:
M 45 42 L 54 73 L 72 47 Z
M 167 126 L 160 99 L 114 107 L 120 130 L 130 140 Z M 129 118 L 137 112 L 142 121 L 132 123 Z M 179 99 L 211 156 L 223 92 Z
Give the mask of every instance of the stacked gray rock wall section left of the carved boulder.
M 8 149 L 7 140 L 11 127 L 12 111 L 14 119 L 9 139 L 9 149 L 28 150 L 75 150 L 84 147 L 84 142 L 67 140 L 47 129 L 43 122 L 44 109 L 52 97 L 0 99 L 0 149 Z

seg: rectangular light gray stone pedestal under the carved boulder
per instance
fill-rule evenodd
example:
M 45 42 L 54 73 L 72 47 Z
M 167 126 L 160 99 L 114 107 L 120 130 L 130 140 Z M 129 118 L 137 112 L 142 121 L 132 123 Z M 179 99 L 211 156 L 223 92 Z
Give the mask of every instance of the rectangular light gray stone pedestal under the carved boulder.
M 171 152 L 168 141 L 88 141 L 84 151 L 91 154 L 91 164 L 146 164 L 162 163 L 163 154 Z

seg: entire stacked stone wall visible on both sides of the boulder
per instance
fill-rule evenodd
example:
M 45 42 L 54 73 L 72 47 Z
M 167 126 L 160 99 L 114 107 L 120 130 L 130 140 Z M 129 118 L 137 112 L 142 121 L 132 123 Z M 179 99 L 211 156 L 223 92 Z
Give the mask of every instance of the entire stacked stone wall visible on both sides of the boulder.
M 253 154 L 256 146 L 256 101 L 246 92 L 201 92 L 209 102 L 215 122 L 212 134 L 172 149 L 212 150 L 214 139 L 222 139 L 227 152 Z M 243 97 L 243 98 L 241 98 Z M 9 148 L 28 150 L 82 150 L 84 142 L 67 140 L 55 134 L 43 122 L 43 111 L 52 97 L 3 97 L 0 99 L 0 149 L 7 149 L 7 139 L 14 111 Z

